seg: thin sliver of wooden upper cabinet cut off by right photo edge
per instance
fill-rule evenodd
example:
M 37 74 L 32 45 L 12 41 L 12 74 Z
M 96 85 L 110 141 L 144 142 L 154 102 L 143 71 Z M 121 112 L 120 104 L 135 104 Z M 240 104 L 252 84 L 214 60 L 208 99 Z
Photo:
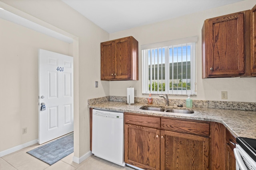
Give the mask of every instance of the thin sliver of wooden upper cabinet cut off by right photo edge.
M 256 76 L 256 5 L 251 10 L 251 72 Z

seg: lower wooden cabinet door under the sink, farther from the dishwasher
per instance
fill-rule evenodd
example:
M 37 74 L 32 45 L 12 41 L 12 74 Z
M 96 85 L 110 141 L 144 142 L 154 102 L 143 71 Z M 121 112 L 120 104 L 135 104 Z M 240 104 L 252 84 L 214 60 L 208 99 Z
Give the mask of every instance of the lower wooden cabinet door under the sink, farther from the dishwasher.
M 161 170 L 208 170 L 209 138 L 161 131 Z

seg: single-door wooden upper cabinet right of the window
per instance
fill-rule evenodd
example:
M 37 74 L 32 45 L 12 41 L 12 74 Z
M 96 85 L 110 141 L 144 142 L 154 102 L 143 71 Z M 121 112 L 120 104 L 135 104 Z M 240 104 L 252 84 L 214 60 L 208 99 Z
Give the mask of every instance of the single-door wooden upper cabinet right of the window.
M 202 78 L 247 76 L 249 60 L 250 10 L 204 21 Z

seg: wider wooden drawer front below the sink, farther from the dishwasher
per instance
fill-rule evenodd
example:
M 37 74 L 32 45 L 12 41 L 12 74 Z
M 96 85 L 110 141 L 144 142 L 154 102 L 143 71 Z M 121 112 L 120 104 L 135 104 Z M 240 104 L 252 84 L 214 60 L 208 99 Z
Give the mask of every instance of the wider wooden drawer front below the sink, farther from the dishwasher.
M 161 129 L 193 135 L 209 136 L 210 124 L 162 118 Z

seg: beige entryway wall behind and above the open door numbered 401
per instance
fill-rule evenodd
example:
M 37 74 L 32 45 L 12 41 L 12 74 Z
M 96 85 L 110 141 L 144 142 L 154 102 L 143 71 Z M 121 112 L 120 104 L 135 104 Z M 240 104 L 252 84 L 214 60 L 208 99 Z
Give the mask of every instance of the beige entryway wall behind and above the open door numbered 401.
M 0 25 L 2 151 L 38 139 L 38 49 L 69 55 L 69 44 L 10 21 Z

